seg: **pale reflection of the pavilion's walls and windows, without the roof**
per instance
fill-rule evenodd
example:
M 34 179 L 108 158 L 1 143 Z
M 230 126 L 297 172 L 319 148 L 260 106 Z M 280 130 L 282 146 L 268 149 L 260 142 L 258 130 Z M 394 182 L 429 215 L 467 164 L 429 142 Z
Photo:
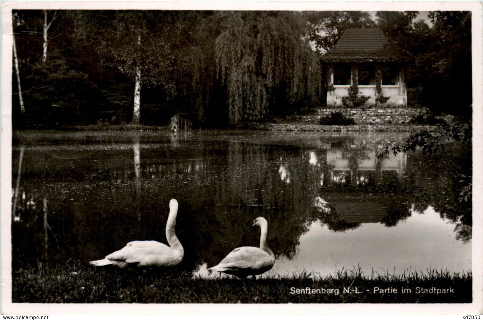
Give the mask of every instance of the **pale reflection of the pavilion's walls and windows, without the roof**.
M 365 185 L 399 180 L 406 169 L 406 153 L 378 158 L 374 151 L 326 150 L 331 183 Z

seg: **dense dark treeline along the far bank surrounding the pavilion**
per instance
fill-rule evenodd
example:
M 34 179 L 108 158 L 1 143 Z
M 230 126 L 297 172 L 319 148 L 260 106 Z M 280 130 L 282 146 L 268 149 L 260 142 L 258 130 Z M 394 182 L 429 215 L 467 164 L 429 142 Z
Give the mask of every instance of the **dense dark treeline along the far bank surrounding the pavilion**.
M 165 125 L 174 113 L 219 126 L 294 113 L 323 102 L 320 55 L 346 28 L 369 27 L 414 56 L 410 104 L 468 114 L 470 13 L 430 12 L 431 26 L 416 16 L 14 11 L 14 126 Z

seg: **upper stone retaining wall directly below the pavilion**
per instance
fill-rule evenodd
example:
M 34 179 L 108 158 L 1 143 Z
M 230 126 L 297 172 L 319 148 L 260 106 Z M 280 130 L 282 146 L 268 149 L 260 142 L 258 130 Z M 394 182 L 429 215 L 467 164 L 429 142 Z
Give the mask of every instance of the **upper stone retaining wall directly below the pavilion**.
M 297 116 L 297 120 L 314 124 L 319 123 L 321 117 L 332 112 L 342 112 L 346 117 L 353 118 L 356 124 L 406 124 L 418 114 L 427 114 L 427 108 L 327 108 L 314 109 L 314 114 Z

